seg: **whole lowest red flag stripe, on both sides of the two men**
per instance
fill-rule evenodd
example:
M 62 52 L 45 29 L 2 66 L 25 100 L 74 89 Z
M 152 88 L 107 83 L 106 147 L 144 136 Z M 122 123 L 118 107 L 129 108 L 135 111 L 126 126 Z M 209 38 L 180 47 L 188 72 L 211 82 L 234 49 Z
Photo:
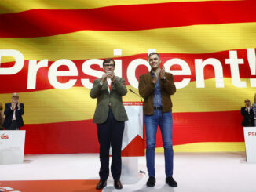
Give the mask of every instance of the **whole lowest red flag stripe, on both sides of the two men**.
M 174 113 L 174 145 L 197 142 L 243 142 L 240 111 Z M 97 153 L 92 120 L 25 125 L 26 154 Z M 163 147 L 160 131 L 156 147 Z

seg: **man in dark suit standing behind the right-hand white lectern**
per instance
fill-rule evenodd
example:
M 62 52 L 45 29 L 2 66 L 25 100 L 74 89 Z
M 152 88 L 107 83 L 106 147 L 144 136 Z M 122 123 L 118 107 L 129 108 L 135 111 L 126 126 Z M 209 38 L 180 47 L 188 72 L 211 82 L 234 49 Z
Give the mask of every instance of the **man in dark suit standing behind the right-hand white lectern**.
M 241 108 L 241 114 L 243 115 L 242 126 L 254 127 L 254 110 L 251 107 L 250 100 L 244 100 L 245 107 Z

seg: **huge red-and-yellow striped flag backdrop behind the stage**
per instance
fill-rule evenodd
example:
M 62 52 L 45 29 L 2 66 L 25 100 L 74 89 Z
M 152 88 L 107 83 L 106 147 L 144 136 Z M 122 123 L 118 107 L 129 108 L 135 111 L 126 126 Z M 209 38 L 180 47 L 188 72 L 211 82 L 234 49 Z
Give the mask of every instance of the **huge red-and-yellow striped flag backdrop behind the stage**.
M 172 96 L 174 150 L 244 150 L 240 107 L 256 92 L 255 10 L 252 0 L 1 0 L 0 54 L 15 50 L 24 65 L 0 74 L 0 102 L 20 93 L 25 153 L 97 152 L 96 100 L 89 92 L 103 71 L 101 60 L 117 60 L 127 89 L 138 92 L 153 49 L 180 85 Z M 230 64 L 231 55 L 240 63 Z M 70 70 L 61 63 L 75 63 L 77 73 L 57 77 L 59 83 L 75 81 L 68 89 L 50 80 L 57 60 L 57 71 Z M 0 61 L 0 71 L 17 62 L 6 55 Z M 140 99 L 128 92 L 123 100 Z M 163 150 L 159 132 L 156 147 Z

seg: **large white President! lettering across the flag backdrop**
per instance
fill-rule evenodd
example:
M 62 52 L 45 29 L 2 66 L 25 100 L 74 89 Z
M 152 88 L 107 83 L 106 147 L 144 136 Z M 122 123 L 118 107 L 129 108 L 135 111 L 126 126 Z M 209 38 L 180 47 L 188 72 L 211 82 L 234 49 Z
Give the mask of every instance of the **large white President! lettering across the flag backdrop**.
M 121 56 L 122 49 L 114 49 L 114 53 L 116 56 Z M 13 67 L 1 67 L 2 56 L 12 56 L 15 59 L 15 63 Z M 251 70 L 251 75 L 256 75 L 255 49 L 253 48 L 247 49 L 247 60 Z M 84 63 L 82 63 L 82 72 L 92 77 L 100 78 L 104 72 L 93 70 L 91 68 L 93 64 L 97 64 L 102 68 L 102 60 L 98 60 L 98 59 L 86 60 Z M 191 75 L 191 69 L 188 66 L 188 63 L 185 62 L 185 60 L 174 58 L 171 60 L 167 60 L 166 63 L 163 63 L 163 64 L 166 68 L 166 71 L 170 71 L 174 75 Z M 247 83 L 240 80 L 239 65 L 244 64 L 244 61 L 243 59 L 237 58 L 237 51 L 229 51 L 229 59 L 225 59 L 225 64 L 230 64 L 232 84 L 236 87 L 241 87 L 241 88 L 247 87 Z M 68 71 L 57 71 L 58 67 L 62 65 L 68 67 Z M 151 67 L 148 64 L 148 61 L 140 58 L 132 60 L 127 67 L 127 71 L 126 71 L 127 79 L 130 85 L 132 85 L 134 88 L 138 87 L 138 81 L 135 75 L 136 74 L 135 71 L 137 67 L 140 65 L 145 65 L 146 67 L 148 67 L 148 71 L 150 71 L 151 69 Z M 170 70 L 170 67 L 172 67 L 173 65 L 179 65 L 181 67 L 181 70 Z M 197 88 L 205 87 L 204 67 L 207 65 L 211 65 L 214 67 L 216 87 L 223 88 L 224 78 L 223 78 L 222 65 L 221 65 L 221 62 L 215 58 L 208 58 L 206 60 L 195 59 L 196 87 Z M 24 67 L 24 56 L 22 53 L 12 49 L 0 50 L 0 75 L 16 74 L 19 71 L 21 71 L 23 67 Z M 41 67 L 48 67 L 47 59 L 38 61 L 38 63 L 36 60 L 29 60 L 28 74 L 27 74 L 27 89 L 36 89 L 37 72 Z M 118 75 L 119 77 L 122 77 L 122 71 L 123 71 L 122 60 L 115 60 L 115 74 Z M 69 89 L 73 87 L 78 80 L 77 78 L 75 79 L 72 78 L 72 79 L 69 79 L 68 82 L 60 83 L 57 81 L 57 76 L 77 77 L 78 69 L 75 63 L 71 60 L 65 60 L 65 59 L 57 60 L 49 67 L 49 71 L 48 71 L 49 83 L 54 88 Z M 182 89 L 182 88 L 185 88 L 190 81 L 191 81 L 191 78 L 184 78 L 181 82 L 175 82 L 175 85 L 177 86 L 177 89 Z M 91 89 L 93 86 L 93 82 L 90 82 L 89 78 L 81 79 L 81 82 L 82 82 L 82 85 L 88 89 Z M 250 85 L 251 87 L 256 87 L 256 78 L 250 78 Z

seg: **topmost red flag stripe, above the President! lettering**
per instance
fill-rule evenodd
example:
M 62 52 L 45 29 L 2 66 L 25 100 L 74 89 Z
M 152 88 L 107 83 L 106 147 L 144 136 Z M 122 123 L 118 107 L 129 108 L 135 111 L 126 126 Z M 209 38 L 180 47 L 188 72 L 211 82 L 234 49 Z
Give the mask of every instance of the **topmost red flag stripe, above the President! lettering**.
M 171 2 L 97 9 L 32 9 L 0 15 L 0 37 L 43 37 L 75 31 L 133 31 L 196 24 L 255 22 L 256 2 Z

